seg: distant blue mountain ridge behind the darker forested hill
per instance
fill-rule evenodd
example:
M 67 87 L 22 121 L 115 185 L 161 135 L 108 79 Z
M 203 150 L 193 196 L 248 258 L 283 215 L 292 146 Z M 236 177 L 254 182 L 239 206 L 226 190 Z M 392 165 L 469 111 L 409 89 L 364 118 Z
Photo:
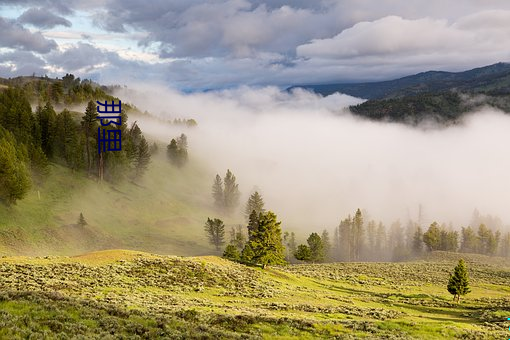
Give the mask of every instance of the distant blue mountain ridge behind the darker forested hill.
M 380 82 L 298 85 L 324 96 L 335 92 L 365 99 L 387 99 L 427 92 L 510 93 L 510 63 L 497 63 L 464 72 L 428 71 Z

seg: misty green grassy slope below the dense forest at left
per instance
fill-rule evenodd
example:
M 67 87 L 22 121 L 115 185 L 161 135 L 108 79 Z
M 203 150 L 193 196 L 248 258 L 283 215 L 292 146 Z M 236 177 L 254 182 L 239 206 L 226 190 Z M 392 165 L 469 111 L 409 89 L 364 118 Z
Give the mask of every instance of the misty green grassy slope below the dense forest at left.
M 0 205 L 0 254 L 73 255 L 106 248 L 213 253 L 202 228 L 217 214 L 211 209 L 211 178 L 193 161 L 179 170 L 165 157 L 153 157 L 136 184 L 99 183 L 52 164 L 25 199 Z M 80 212 L 87 226 L 77 225 Z

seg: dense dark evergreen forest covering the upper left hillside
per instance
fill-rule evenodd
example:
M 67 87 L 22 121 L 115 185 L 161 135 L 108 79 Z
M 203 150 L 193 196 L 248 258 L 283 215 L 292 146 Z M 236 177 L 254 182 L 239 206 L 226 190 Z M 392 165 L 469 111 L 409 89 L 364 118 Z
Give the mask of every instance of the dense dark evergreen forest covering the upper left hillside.
M 136 122 L 128 125 L 129 104 L 120 114 L 122 148 L 99 153 L 96 101 L 119 102 L 108 88 L 71 74 L 62 79 L 19 77 L 2 80 L 0 91 L 0 200 L 13 204 L 33 181 L 43 181 L 55 162 L 99 180 L 136 181 L 150 162 L 148 143 Z M 67 107 L 88 102 L 84 112 Z M 35 111 L 32 110 L 35 106 Z M 57 113 L 55 108 L 62 108 Z M 112 129 L 113 125 L 106 128 Z

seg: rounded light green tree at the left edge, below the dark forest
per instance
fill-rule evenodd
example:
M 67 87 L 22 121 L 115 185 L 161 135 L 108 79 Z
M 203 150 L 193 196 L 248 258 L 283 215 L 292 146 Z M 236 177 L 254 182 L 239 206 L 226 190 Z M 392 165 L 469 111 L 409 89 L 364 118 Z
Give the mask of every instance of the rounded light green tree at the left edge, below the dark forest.
M 25 148 L 17 146 L 14 136 L 0 128 L 0 201 L 7 205 L 25 197 L 31 186 Z

